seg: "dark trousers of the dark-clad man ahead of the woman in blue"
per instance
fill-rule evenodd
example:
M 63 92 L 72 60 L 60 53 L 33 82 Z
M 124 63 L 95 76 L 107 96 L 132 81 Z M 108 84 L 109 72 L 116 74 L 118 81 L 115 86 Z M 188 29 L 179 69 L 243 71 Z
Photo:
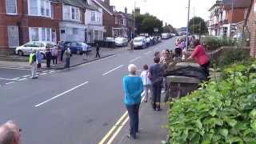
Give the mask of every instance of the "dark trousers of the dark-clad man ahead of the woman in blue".
M 155 82 L 153 84 L 152 92 L 152 108 L 153 109 L 160 109 L 160 102 L 161 102 L 161 90 L 162 90 L 162 82 Z M 157 107 L 158 105 L 158 107 Z

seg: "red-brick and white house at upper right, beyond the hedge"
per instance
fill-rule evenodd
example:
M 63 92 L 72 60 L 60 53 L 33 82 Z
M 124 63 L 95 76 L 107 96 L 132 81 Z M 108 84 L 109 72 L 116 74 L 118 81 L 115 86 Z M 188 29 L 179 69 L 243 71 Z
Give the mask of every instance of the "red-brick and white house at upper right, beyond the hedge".
M 218 0 L 210 8 L 210 23 L 208 27 L 210 35 L 234 37 L 236 26 L 246 18 L 249 2 L 241 0 L 233 0 L 233 2 L 233 10 L 232 0 Z

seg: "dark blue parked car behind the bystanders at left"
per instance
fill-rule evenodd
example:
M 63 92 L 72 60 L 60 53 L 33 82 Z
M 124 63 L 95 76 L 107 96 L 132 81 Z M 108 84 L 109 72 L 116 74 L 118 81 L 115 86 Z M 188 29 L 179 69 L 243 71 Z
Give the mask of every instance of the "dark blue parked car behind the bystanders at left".
M 87 45 L 85 42 L 65 42 L 65 46 L 70 46 L 71 53 L 82 54 L 83 46 L 88 47 L 88 51 L 91 51 L 91 46 Z

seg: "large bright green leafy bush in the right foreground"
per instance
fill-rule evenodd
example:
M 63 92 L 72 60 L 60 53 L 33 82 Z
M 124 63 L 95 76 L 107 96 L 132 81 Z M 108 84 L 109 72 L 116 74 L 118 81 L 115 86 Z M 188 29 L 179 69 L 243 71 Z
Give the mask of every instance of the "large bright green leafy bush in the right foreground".
M 256 62 L 170 104 L 171 144 L 256 143 Z M 254 71 L 255 72 L 255 71 Z

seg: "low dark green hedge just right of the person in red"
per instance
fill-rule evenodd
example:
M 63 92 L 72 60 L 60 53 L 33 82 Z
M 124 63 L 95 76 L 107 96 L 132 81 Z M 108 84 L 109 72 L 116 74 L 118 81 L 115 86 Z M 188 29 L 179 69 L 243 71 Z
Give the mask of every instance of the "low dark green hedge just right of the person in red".
M 208 37 L 202 40 L 207 50 L 217 50 L 222 46 L 235 46 L 237 42 L 231 38 Z

